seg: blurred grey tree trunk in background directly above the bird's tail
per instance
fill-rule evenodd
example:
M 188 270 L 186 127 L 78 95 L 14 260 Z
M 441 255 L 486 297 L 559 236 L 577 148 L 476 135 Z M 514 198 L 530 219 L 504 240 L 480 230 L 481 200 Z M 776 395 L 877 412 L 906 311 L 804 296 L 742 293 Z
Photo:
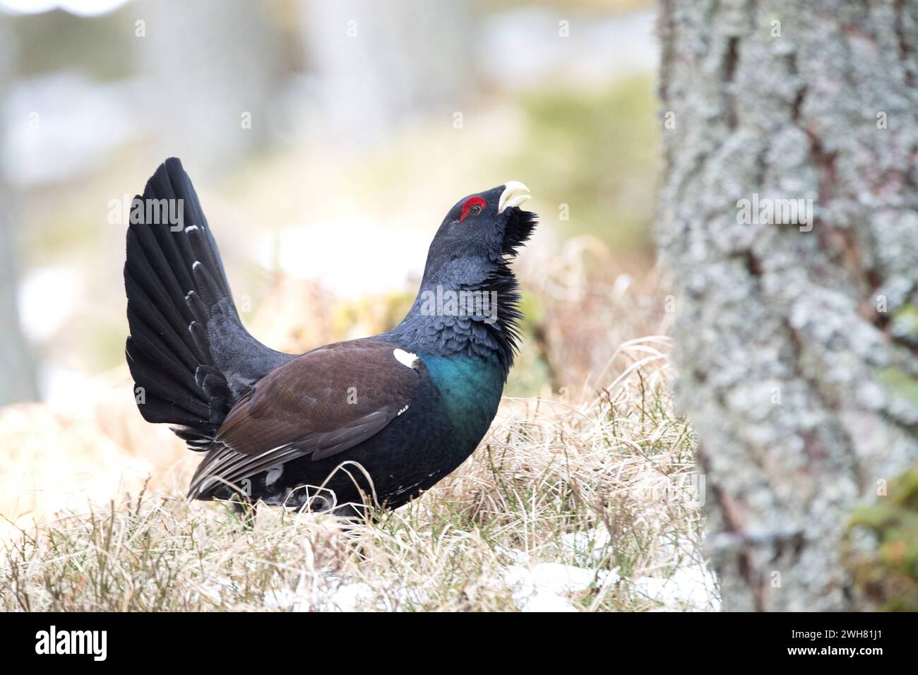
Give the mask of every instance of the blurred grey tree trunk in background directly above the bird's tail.
M 125 11 L 149 75 L 142 109 L 162 157 L 218 169 L 266 145 L 283 75 L 268 6 L 160 0 Z

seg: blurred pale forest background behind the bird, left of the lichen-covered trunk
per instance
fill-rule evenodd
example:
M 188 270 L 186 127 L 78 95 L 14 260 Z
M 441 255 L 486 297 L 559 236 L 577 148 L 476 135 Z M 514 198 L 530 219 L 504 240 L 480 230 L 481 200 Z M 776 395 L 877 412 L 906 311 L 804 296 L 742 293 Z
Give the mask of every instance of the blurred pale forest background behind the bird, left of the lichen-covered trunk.
M 521 180 L 542 224 L 506 393 L 595 395 L 666 332 L 653 31 L 636 0 L 0 0 L 0 402 L 41 401 L 0 412 L 0 512 L 190 456 L 133 404 L 110 213 L 173 155 L 285 351 L 386 330 L 445 211 Z

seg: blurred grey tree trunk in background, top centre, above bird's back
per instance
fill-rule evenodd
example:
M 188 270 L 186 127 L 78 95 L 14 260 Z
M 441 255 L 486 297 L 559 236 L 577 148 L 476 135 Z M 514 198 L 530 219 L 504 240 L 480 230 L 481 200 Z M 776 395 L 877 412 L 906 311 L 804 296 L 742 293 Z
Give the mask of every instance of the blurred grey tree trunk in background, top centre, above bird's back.
M 333 130 L 372 143 L 414 119 L 475 101 L 467 0 L 301 0 L 315 95 Z

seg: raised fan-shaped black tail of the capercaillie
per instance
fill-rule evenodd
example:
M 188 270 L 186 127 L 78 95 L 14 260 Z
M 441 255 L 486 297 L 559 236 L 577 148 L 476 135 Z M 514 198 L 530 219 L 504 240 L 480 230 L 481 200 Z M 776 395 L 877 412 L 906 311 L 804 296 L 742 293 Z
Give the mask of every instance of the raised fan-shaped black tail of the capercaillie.
M 243 327 L 217 243 L 182 163 L 135 197 L 124 265 L 128 366 L 140 414 L 205 450 L 243 391 L 292 358 Z

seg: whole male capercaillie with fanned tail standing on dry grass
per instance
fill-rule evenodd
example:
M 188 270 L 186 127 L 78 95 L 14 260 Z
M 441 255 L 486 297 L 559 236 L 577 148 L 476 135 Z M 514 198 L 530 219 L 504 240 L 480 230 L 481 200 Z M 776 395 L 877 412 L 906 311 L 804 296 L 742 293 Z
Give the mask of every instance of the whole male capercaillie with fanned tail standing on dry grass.
M 528 197 L 510 182 L 457 202 L 391 331 L 283 354 L 242 326 L 195 188 L 166 160 L 130 211 L 127 358 L 143 418 L 206 453 L 189 497 L 359 514 L 368 502 L 394 509 L 458 467 L 513 363 L 521 314 L 508 262 L 535 227 L 519 208 Z M 183 221 L 163 222 L 176 212 Z

